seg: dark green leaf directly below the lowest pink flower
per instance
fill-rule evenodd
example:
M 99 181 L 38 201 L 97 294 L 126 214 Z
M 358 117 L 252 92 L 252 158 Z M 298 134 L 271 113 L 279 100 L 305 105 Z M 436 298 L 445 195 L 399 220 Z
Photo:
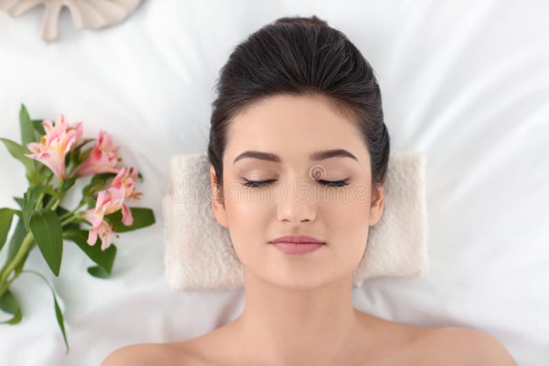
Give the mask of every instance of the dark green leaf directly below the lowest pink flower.
M 95 277 L 108 278 L 110 276 L 110 270 L 113 269 L 117 249 L 114 244 L 111 244 L 107 249 L 102 251 L 102 242 L 99 238 L 97 238 L 95 245 L 89 245 L 87 243 L 88 234 L 89 233 L 87 230 L 65 230 L 63 232 L 63 238 L 73 241 L 91 260 L 93 260 L 93 262 L 101 267 L 102 271 L 99 269 L 90 270 L 90 268 L 93 268 L 90 267 L 88 271 L 91 275 L 95 276 L 96 274 L 103 274 L 105 276 Z

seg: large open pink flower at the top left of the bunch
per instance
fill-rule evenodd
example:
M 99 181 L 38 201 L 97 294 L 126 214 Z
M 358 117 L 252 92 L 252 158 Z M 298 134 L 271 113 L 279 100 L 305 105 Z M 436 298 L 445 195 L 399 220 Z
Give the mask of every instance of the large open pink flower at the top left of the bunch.
M 61 114 L 55 125 L 49 119 L 42 121 L 42 125 L 46 134 L 40 143 L 27 143 L 32 154 L 24 155 L 45 164 L 59 180 L 65 180 L 65 156 L 82 141 L 82 122 L 68 125 Z

